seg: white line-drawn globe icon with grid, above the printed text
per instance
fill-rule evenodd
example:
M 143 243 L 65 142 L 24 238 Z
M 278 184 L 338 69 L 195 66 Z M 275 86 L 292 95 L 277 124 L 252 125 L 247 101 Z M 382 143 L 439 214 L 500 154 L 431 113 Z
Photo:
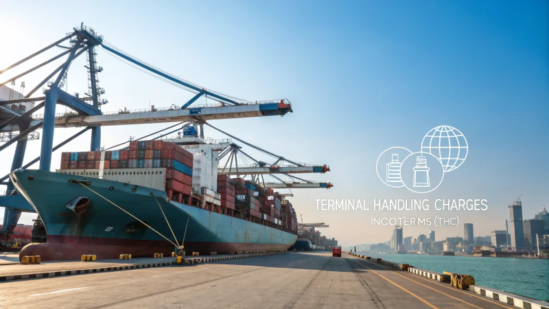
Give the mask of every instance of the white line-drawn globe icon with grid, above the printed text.
M 444 172 L 459 168 L 467 158 L 467 150 L 467 139 L 452 126 L 432 128 L 421 141 L 421 152 L 428 152 L 438 158 Z

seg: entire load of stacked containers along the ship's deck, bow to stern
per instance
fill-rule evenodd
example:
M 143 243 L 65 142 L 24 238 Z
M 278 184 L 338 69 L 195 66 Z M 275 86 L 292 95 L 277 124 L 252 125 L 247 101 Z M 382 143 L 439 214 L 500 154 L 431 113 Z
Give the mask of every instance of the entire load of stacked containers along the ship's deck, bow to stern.
M 297 233 L 292 204 L 253 181 L 217 174 L 213 159 L 166 141 L 131 141 L 129 150 L 63 152 L 59 172 L 121 181 L 168 198 Z

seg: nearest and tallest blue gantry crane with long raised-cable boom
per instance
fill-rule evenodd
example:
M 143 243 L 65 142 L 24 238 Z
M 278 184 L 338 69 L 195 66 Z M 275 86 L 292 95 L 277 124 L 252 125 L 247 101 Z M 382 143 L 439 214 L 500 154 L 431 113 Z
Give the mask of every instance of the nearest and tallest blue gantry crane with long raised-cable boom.
M 65 47 L 60 44 L 68 41 L 69 46 Z M 51 62 L 55 62 L 63 56 L 67 56 L 54 71 L 49 73 L 43 80 L 38 82 L 36 87 L 32 88 L 23 98 L 10 98 L 11 100 L 0 101 L 0 130 L 9 132 L 19 132 L 17 135 L 10 137 L 5 144 L 0 146 L 0 151 L 8 148 L 8 146 L 16 143 L 16 151 L 10 170 L 16 170 L 23 167 L 23 157 L 27 137 L 39 128 L 42 129 L 42 144 L 40 147 L 40 157 L 27 163 L 25 167 L 32 163 L 40 162 L 40 170 L 50 170 L 51 168 L 51 153 L 61 146 L 72 141 L 76 137 L 82 135 L 87 130 L 91 130 L 90 150 L 99 150 L 101 144 L 101 127 L 128 125 L 128 124 L 150 124 L 159 122 L 205 122 L 213 119 L 235 119 L 239 117 L 263 117 L 263 116 L 283 116 L 286 113 L 292 112 L 290 101 L 268 100 L 268 101 L 248 101 L 218 93 L 211 89 L 198 86 L 182 78 L 178 78 L 166 71 L 148 65 L 129 54 L 122 52 L 117 47 L 111 45 L 104 40 L 103 36 L 97 34 L 91 27 L 86 27 L 80 24 L 80 27 L 74 27 L 73 31 L 59 40 L 47 45 L 38 52 L 30 54 L 12 65 L 0 69 L 0 75 L 10 71 L 14 67 L 21 65 L 27 60 L 42 54 L 43 52 L 59 47 L 63 49 L 60 54 L 41 62 L 34 67 L 27 69 L 23 73 L 16 74 L 0 82 L 0 87 L 10 82 L 14 82 L 18 78 L 26 76 L 40 67 L 44 67 Z M 103 71 L 103 68 L 97 65 L 97 48 L 102 47 L 110 54 L 117 58 L 122 58 L 124 61 L 130 62 L 133 66 L 139 67 L 141 71 L 148 73 L 160 80 L 175 85 L 181 89 L 193 93 L 194 96 L 183 102 L 180 106 L 170 106 L 169 108 L 146 108 L 136 110 L 117 111 L 114 113 L 106 113 L 102 111 L 102 105 L 108 103 L 107 100 L 101 99 L 101 95 L 105 93 L 102 87 L 99 87 L 97 73 Z M 63 87 L 67 82 L 67 72 L 73 60 L 78 56 L 86 53 L 87 63 L 86 71 L 88 73 L 88 92 L 86 97 L 80 98 L 78 93 L 74 95 L 63 91 Z M 42 89 L 42 94 L 33 96 L 36 91 L 47 85 L 47 88 Z M 207 106 L 193 106 L 198 98 L 205 97 L 213 100 L 214 104 Z M 38 102 L 34 104 L 34 102 Z M 14 113 L 8 108 L 13 104 L 32 104 L 32 108 L 21 113 Z M 65 105 L 71 108 L 71 112 L 62 115 L 56 114 L 56 104 Z M 33 115 L 40 108 L 44 108 L 43 115 Z M 8 127 L 9 126 L 9 127 Z M 82 127 L 80 132 L 69 137 L 62 143 L 54 147 L 54 130 L 56 127 Z M 7 176 L 4 176 L 0 181 L 1 185 L 6 185 L 6 192 L 10 192 L 10 196 L 0 196 L 0 206 L 5 206 L 5 216 L 3 220 L 3 228 L 0 233 L 5 233 L 8 229 L 13 229 L 14 225 L 21 215 L 21 209 L 25 211 L 34 211 L 21 194 L 15 194 L 14 187 Z

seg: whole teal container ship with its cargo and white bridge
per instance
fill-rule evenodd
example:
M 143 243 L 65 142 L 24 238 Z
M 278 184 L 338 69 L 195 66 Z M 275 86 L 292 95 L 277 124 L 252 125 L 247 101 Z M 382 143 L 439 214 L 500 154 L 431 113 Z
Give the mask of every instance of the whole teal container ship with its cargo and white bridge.
M 127 150 L 63 152 L 56 172 L 12 172 L 47 231 L 47 242 L 27 244 L 20 258 L 289 249 L 297 239 L 292 204 L 258 183 L 218 174 L 226 146 L 198 137 L 131 141 Z

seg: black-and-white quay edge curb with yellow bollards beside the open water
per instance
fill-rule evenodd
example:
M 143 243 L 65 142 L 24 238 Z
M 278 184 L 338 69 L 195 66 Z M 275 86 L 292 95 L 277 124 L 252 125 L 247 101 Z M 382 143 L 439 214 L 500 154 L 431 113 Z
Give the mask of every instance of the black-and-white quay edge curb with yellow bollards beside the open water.
M 469 290 L 473 293 L 477 293 L 478 295 L 482 295 L 485 297 L 489 297 L 490 299 L 494 299 L 496 301 L 501 301 L 502 303 L 515 306 L 517 308 L 524 308 L 524 309 L 549 309 L 549 302 L 546 301 L 540 301 L 537 299 L 531 299 L 528 297 L 515 295 L 513 293 L 505 292 L 503 290 L 496 290 L 494 288 L 487 288 L 485 286 L 478 286 L 475 285 L 475 279 L 474 277 L 470 275 L 461 275 L 456 273 L 434 273 L 432 271 L 425 271 L 421 268 L 415 268 L 414 266 L 410 266 L 408 264 L 400 264 L 395 262 L 390 262 L 386 260 L 382 260 L 380 258 L 371 258 L 366 255 L 360 255 L 357 253 L 350 253 L 347 251 L 343 251 L 343 253 L 347 253 L 349 255 L 353 255 L 357 258 L 362 258 L 364 260 L 371 260 L 372 262 L 375 261 L 379 264 L 384 264 L 390 267 L 393 267 L 395 269 L 401 270 L 401 271 L 408 271 L 410 273 L 413 273 L 415 275 L 420 275 L 422 277 L 428 277 L 429 279 L 435 280 L 437 282 L 444 282 L 451 284 L 454 288 L 458 288 L 460 290 Z

